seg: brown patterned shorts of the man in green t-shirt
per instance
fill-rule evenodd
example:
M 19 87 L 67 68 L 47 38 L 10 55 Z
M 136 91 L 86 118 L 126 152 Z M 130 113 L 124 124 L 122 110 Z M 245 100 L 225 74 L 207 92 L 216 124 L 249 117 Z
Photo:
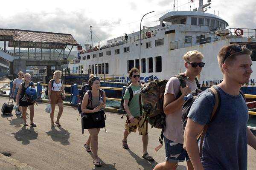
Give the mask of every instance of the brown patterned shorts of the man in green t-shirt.
M 139 130 L 139 135 L 147 135 L 148 134 L 148 121 L 144 122 L 144 117 L 143 116 L 137 116 L 134 117 L 135 118 L 135 122 L 131 123 L 130 119 L 128 116 L 127 120 L 125 122 L 125 130 L 130 134 L 131 132 L 136 132 L 137 127 Z M 142 125 L 142 123 L 144 122 L 143 126 L 140 127 Z

